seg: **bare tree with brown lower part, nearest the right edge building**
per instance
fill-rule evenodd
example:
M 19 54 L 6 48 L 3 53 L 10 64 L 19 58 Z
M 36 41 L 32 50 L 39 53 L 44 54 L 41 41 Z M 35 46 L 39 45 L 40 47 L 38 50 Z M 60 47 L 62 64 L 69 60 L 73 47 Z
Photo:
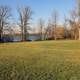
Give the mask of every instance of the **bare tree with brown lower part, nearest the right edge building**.
M 77 21 L 77 13 L 75 10 L 72 10 L 71 11 L 71 14 L 70 14 L 70 26 L 71 26 L 71 36 L 72 36 L 72 39 L 78 39 L 78 36 L 79 36 L 79 32 L 78 32 L 78 29 L 79 29 L 79 24 L 78 24 L 78 21 Z

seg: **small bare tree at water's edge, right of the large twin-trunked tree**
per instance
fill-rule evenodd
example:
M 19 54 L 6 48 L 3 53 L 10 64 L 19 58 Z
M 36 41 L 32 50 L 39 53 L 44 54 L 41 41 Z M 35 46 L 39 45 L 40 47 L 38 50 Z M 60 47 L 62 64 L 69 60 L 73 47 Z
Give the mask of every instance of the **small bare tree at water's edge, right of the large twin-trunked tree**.
M 44 34 L 44 20 L 42 18 L 38 21 L 38 31 L 40 35 L 40 40 L 43 40 L 43 34 Z

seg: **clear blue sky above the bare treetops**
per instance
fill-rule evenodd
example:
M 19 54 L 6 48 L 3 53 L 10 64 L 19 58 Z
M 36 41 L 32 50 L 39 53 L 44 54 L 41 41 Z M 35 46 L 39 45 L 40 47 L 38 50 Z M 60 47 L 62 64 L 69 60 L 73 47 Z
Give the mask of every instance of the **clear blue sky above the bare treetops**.
M 17 6 L 30 6 L 34 12 L 33 23 L 40 17 L 47 21 L 54 9 L 59 11 L 60 20 L 62 21 L 64 14 L 76 6 L 75 0 L 0 0 L 0 5 L 11 6 L 15 19 L 17 19 L 18 15 L 16 11 Z

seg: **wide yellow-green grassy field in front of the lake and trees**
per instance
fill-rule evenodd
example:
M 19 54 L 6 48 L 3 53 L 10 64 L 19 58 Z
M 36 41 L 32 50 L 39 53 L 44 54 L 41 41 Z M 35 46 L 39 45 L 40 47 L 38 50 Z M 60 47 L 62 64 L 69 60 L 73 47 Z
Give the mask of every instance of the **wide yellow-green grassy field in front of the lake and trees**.
M 80 80 L 80 41 L 0 43 L 0 80 Z

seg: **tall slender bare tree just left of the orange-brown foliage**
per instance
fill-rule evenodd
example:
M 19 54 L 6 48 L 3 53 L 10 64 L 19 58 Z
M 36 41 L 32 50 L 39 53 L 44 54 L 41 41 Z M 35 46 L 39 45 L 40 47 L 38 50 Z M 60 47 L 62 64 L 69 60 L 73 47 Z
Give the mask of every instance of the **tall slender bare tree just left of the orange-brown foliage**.
M 59 13 L 57 10 L 54 10 L 52 13 L 52 38 L 57 39 L 56 27 L 58 25 Z

